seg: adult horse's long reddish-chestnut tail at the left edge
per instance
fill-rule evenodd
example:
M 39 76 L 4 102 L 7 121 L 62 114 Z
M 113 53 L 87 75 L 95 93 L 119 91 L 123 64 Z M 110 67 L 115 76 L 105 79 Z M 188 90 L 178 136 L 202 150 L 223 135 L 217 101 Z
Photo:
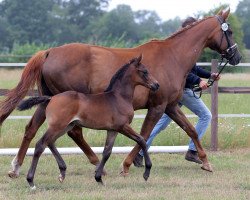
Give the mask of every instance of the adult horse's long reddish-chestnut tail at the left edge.
M 29 89 L 37 84 L 41 91 L 42 65 L 49 51 L 37 52 L 25 66 L 18 85 L 7 93 L 6 99 L 0 102 L 0 125 L 15 109 L 17 104 L 25 97 Z

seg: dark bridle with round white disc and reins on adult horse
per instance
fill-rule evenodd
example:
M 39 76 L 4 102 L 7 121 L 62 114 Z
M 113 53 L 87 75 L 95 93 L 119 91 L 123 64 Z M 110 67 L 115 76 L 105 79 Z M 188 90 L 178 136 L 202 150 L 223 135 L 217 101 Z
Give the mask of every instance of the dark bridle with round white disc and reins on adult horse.
M 228 64 L 229 60 L 234 57 L 236 51 L 237 51 L 237 44 L 233 44 L 231 45 L 231 42 L 229 40 L 228 37 L 228 28 L 229 28 L 229 24 L 226 23 L 224 20 L 221 19 L 220 16 L 216 15 L 215 16 L 217 18 L 217 20 L 220 22 L 221 25 L 221 30 L 223 32 L 222 37 L 221 37 L 221 42 L 220 42 L 220 47 L 222 45 L 222 41 L 223 41 L 223 37 L 225 35 L 226 40 L 227 40 L 227 49 L 224 50 L 226 53 L 223 54 L 221 53 L 221 61 L 218 67 L 221 67 L 223 59 L 225 58 L 227 61 L 225 62 L 225 64 L 223 65 L 223 67 L 220 69 L 219 73 L 217 74 L 216 77 L 214 78 L 209 78 L 207 81 L 208 87 L 211 87 L 214 84 L 214 81 L 219 77 L 219 75 L 221 74 L 221 72 L 223 71 L 223 69 L 225 68 L 225 66 Z M 223 51 L 222 51 L 223 52 Z M 202 89 L 199 87 L 199 85 L 194 85 L 192 88 L 193 94 L 195 98 L 200 98 L 202 95 Z M 199 95 L 195 95 L 195 92 L 199 92 Z

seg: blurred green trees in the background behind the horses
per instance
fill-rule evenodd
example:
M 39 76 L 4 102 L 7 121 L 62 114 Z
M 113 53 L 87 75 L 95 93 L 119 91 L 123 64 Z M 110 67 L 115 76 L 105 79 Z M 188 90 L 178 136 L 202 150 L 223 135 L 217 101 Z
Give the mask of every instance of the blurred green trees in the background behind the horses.
M 179 17 L 162 21 L 154 11 L 133 12 L 128 5 L 119 5 L 108 12 L 105 8 L 109 1 L 2 0 L 0 55 L 33 54 L 37 48 L 70 42 L 133 47 L 151 38 L 166 38 L 174 33 L 182 22 Z M 197 15 L 202 18 L 216 13 L 218 9 Z M 241 50 L 250 48 L 249 19 L 250 0 L 240 1 L 236 12 L 231 13 L 229 22 Z M 216 56 L 206 50 L 201 61 L 209 61 Z M 13 60 L 6 56 L 0 57 L 0 61 L 4 59 Z M 25 59 L 27 58 L 24 58 L 24 62 Z

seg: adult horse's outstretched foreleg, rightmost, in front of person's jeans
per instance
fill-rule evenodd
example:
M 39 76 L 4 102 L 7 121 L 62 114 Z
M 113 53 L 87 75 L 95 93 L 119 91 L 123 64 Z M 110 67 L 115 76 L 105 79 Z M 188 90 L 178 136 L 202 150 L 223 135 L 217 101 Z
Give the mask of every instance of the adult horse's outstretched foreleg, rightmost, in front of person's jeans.
M 212 172 L 212 167 L 208 162 L 207 155 L 198 139 L 198 134 L 194 126 L 188 121 L 179 106 L 167 108 L 165 113 L 171 117 L 193 140 L 198 151 L 199 158 L 202 160 L 202 169 Z

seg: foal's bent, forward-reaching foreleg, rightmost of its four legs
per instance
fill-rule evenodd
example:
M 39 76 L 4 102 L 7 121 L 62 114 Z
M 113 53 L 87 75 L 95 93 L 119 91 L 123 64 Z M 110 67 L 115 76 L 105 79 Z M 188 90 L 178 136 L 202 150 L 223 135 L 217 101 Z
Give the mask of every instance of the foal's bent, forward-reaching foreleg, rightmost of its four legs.
M 148 155 L 148 150 L 147 150 L 147 144 L 144 138 L 137 134 L 129 124 L 126 124 L 123 127 L 123 130 L 121 132 L 122 134 L 126 135 L 127 137 L 131 138 L 132 140 L 136 141 L 138 145 L 142 148 L 143 154 L 144 154 L 144 160 L 145 160 L 145 172 L 143 174 L 143 177 L 145 180 L 148 179 L 149 174 L 150 174 L 150 169 L 152 167 L 152 163 L 150 160 L 150 157 Z

